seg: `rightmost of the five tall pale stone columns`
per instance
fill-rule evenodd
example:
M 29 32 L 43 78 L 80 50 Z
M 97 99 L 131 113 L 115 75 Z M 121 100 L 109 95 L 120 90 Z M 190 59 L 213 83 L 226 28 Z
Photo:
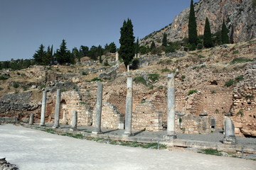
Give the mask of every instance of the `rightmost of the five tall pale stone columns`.
M 167 110 L 167 134 L 164 135 L 164 139 L 174 140 L 174 139 L 176 139 L 174 73 L 168 74 L 167 108 L 168 108 L 168 110 Z

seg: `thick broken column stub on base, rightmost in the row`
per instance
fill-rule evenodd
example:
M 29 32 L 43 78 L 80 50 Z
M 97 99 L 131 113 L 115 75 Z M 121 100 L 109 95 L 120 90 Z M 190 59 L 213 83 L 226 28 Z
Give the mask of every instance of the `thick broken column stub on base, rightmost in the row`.
M 237 140 L 235 138 L 235 126 L 230 118 L 225 118 L 225 136 L 223 139 L 223 144 L 235 145 Z

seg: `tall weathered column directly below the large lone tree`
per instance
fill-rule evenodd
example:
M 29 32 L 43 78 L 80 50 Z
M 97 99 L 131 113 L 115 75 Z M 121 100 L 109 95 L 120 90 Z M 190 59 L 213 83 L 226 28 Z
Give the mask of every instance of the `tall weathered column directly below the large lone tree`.
M 125 128 L 123 136 L 132 135 L 132 77 L 127 77 L 127 98 L 125 110 Z

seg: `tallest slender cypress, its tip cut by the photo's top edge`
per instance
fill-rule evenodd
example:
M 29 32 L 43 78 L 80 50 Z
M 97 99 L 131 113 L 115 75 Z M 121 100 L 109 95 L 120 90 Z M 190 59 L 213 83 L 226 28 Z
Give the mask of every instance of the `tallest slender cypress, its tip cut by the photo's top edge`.
M 191 0 L 191 6 L 188 18 L 188 42 L 192 45 L 191 50 L 196 50 L 197 45 L 197 30 L 196 30 L 196 16 L 193 6 L 193 0 Z

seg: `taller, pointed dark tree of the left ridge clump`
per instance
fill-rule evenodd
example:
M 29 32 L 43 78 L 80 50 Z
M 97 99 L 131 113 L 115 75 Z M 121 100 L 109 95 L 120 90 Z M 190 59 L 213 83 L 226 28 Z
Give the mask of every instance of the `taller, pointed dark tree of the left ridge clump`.
M 55 57 L 59 64 L 75 63 L 73 55 L 70 50 L 67 49 L 67 42 L 65 42 L 65 40 L 61 43 L 60 49 L 57 49 Z

